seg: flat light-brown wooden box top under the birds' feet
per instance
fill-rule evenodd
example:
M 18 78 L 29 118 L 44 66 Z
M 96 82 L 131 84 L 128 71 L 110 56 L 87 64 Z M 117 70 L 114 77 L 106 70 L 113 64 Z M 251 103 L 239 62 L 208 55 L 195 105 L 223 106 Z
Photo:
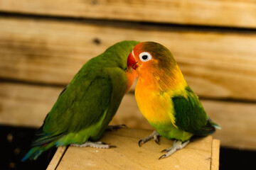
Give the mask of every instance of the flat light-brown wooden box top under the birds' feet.
M 171 157 L 159 160 L 161 150 L 173 141 L 161 137 L 160 144 L 149 141 L 142 147 L 138 141 L 152 130 L 122 129 L 107 132 L 102 141 L 117 146 L 112 149 L 68 147 L 57 169 L 210 169 L 212 137 L 193 140 Z

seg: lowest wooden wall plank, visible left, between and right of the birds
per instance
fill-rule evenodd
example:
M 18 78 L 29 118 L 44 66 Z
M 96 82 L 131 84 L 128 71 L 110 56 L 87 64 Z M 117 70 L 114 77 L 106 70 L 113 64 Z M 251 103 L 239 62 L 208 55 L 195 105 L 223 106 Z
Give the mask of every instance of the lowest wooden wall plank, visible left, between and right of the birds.
M 0 123 L 40 127 L 62 88 L 0 83 Z M 221 126 L 214 138 L 222 146 L 256 149 L 256 103 L 201 100 L 206 112 Z M 111 124 L 152 129 L 139 112 L 134 95 L 128 94 Z

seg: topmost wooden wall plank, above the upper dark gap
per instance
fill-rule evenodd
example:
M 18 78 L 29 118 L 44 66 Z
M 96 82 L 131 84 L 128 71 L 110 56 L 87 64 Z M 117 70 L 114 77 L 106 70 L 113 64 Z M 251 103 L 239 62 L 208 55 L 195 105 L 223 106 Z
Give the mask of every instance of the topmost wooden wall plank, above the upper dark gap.
M 256 28 L 251 0 L 1 0 L 0 11 L 45 16 Z

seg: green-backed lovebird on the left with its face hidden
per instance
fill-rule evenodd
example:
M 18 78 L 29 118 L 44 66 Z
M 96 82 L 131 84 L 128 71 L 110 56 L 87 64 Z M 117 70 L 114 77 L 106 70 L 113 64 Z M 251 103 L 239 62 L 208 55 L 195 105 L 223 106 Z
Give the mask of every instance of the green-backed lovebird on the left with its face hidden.
M 127 57 L 138 43 L 118 42 L 83 65 L 58 96 L 22 161 L 37 159 L 53 146 L 112 147 L 95 141 L 137 78 L 136 72 L 127 69 Z

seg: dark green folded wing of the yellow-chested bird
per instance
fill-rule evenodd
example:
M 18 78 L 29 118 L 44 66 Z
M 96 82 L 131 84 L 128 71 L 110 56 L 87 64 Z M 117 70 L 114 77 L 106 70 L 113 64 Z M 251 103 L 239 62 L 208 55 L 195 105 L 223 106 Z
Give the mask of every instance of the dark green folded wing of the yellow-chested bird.
M 172 101 L 175 110 L 176 126 L 186 132 L 195 135 L 206 136 L 215 132 L 206 111 L 204 111 L 198 96 L 193 93 L 189 86 L 186 87 L 187 98 L 183 96 L 174 96 Z

